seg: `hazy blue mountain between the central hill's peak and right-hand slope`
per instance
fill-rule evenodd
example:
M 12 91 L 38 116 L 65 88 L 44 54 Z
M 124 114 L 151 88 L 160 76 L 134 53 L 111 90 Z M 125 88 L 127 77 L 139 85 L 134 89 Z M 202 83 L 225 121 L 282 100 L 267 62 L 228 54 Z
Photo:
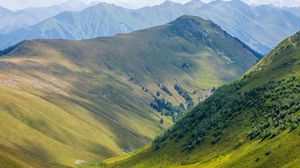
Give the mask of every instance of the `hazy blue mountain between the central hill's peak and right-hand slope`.
M 251 7 L 240 0 L 213 1 L 197 12 L 264 54 L 300 29 L 299 18 L 285 10 Z

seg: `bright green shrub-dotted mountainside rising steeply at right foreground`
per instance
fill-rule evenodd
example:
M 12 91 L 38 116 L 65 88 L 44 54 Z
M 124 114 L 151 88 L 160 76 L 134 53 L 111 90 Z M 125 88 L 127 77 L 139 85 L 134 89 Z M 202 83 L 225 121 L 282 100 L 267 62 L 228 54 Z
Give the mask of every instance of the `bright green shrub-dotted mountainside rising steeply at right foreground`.
M 300 32 L 171 129 L 100 167 L 298 167 Z M 87 167 L 95 163 L 87 164 Z

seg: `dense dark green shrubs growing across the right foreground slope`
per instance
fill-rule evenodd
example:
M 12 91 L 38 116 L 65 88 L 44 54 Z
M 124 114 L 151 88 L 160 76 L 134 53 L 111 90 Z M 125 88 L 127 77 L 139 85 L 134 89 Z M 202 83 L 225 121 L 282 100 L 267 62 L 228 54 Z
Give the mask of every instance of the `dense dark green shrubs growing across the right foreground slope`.
M 222 138 L 224 130 L 239 115 L 247 117 L 246 121 L 251 121 L 252 130 L 247 135 L 250 140 L 266 140 L 287 128 L 291 131 L 297 128 L 300 122 L 300 118 L 296 116 L 300 110 L 298 79 L 270 81 L 250 91 L 240 92 L 239 88 L 246 84 L 244 81 L 219 88 L 170 129 L 176 142 L 191 132 L 186 137 L 183 150 L 193 149 L 203 143 L 209 133 L 212 136 L 211 143 L 216 144 Z M 174 88 L 179 94 L 184 93 L 179 85 Z

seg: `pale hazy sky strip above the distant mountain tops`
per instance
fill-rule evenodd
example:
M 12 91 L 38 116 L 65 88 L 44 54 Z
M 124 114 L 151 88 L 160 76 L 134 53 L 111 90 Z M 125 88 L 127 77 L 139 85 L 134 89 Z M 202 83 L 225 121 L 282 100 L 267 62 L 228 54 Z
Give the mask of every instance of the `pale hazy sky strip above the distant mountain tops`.
M 59 4 L 66 1 L 73 0 L 0 0 L 0 6 L 16 10 L 28 7 L 37 6 L 50 6 L 53 4 Z M 160 4 L 165 0 L 81 0 L 87 3 L 94 1 L 105 1 L 109 3 L 115 3 L 125 7 L 138 8 L 142 6 L 149 6 Z M 189 0 L 172 0 L 175 2 L 185 3 Z M 203 0 L 209 2 L 211 0 Z M 248 4 L 273 4 L 277 6 L 300 6 L 300 0 L 243 0 Z

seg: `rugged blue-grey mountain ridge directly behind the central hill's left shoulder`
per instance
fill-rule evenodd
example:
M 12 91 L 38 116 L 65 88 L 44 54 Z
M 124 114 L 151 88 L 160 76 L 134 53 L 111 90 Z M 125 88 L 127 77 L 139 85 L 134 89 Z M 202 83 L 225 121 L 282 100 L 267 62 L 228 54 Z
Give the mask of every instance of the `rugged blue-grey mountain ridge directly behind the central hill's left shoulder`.
M 82 40 L 165 24 L 183 14 L 173 9 L 176 5 L 172 4 L 166 2 L 162 6 L 154 7 L 155 10 L 144 8 L 139 12 L 113 4 L 99 3 L 80 12 L 64 12 L 31 27 L 0 35 L 0 39 L 3 40 L 0 48 L 6 48 L 25 39 Z

